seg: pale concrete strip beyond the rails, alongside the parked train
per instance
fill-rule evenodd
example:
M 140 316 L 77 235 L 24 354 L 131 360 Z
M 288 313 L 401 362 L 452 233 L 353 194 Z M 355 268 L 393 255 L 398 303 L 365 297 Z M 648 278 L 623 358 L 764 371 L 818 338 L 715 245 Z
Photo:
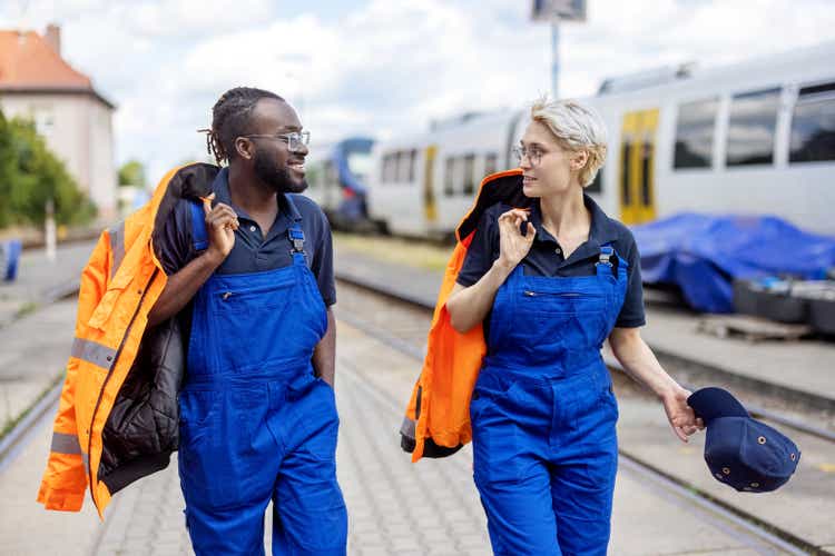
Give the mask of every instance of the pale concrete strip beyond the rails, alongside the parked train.
M 434 306 L 442 279 L 441 271 L 394 265 L 340 244 L 334 268 L 337 275 L 404 291 L 428 306 Z M 778 396 L 795 397 L 835 414 L 835 342 L 752 344 L 734 337 L 716 338 L 696 328 L 691 314 L 648 305 L 641 335 L 657 354 L 709 369 L 719 379 L 727 379 L 726 384 L 744 381 L 759 390 L 773 389 Z

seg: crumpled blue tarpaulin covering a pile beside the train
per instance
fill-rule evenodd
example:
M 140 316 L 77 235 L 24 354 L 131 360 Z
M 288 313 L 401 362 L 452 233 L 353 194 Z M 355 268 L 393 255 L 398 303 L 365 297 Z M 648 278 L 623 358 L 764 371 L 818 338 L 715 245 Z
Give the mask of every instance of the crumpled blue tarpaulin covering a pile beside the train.
M 680 214 L 632 228 L 645 284 L 675 284 L 696 310 L 731 312 L 734 279 L 825 278 L 835 238 L 776 217 Z

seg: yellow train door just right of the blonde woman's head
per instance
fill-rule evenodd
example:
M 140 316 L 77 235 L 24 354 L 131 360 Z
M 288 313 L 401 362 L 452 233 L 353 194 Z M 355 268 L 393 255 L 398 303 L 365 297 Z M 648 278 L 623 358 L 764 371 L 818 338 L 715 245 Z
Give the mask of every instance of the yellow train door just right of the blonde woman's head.
M 658 109 L 623 115 L 620 139 L 620 219 L 641 224 L 656 217 L 655 158 Z

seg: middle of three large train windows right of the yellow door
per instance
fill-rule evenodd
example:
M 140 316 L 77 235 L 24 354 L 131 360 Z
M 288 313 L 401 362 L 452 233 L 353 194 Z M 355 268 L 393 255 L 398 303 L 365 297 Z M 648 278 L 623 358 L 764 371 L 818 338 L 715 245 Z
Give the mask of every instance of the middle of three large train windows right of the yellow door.
M 770 165 L 779 89 L 734 95 L 728 119 L 727 165 Z

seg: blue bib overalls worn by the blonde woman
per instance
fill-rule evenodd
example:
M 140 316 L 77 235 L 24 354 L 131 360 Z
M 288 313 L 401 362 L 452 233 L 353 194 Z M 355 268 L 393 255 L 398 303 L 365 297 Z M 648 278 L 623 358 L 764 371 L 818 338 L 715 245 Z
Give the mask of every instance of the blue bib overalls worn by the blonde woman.
M 606 554 L 618 406 L 600 348 L 626 286 L 626 261 L 603 246 L 593 276 L 524 276 L 520 264 L 497 292 L 470 406 L 495 554 Z

